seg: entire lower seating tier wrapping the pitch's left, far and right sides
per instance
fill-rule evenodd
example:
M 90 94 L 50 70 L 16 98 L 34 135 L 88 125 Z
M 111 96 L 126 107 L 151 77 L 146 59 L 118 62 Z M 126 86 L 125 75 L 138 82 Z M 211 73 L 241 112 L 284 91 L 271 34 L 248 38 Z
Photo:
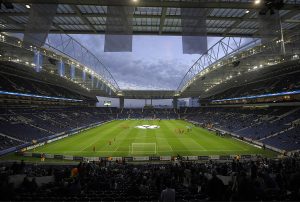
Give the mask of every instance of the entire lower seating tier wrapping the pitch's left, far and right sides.
M 0 133 L 12 137 L 1 141 L 1 150 L 23 142 L 113 119 L 187 119 L 266 145 L 290 151 L 300 149 L 300 108 L 183 108 L 117 109 L 94 107 L 2 108 Z M 16 138 L 19 141 L 15 141 Z

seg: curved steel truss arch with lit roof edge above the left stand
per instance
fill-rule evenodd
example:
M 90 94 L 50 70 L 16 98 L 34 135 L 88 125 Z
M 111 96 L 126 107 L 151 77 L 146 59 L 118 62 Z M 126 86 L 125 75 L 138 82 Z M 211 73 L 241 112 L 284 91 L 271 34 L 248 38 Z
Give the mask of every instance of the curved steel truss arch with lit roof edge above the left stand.
M 68 58 L 77 68 L 80 67 L 82 71 L 93 74 L 114 92 L 120 90 L 118 83 L 108 68 L 93 53 L 69 35 L 51 34 L 42 47 L 35 47 L 33 44 L 21 41 L 16 37 L 4 33 L 1 33 L 0 42 L 32 52 L 40 51 L 41 54 L 55 59 L 60 57 Z

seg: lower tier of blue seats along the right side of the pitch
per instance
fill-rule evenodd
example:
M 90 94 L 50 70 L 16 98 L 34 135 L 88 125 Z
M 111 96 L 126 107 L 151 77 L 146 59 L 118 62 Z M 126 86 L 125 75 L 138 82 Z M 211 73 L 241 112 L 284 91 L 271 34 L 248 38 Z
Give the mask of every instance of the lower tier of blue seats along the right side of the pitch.
M 282 150 L 300 149 L 298 107 L 189 109 L 181 116 Z

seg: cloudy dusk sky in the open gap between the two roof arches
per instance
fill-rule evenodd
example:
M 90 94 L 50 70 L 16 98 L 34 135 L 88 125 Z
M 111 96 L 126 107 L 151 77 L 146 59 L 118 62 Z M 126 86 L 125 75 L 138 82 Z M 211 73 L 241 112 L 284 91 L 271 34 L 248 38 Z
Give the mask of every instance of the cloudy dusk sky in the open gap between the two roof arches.
M 110 70 L 121 89 L 176 89 L 200 57 L 182 54 L 179 36 L 133 36 L 132 52 L 104 52 L 104 35 L 72 35 Z M 208 46 L 220 38 L 208 38 Z

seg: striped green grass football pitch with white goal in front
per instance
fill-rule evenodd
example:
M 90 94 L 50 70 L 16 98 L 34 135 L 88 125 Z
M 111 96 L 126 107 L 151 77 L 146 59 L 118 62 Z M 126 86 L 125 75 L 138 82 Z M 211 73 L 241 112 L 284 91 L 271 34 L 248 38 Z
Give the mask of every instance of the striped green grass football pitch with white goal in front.
M 139 129 L 139 125 L 158 125 L 157 129 Z M 84 157 L 109 156 L 203 156 L 203 155 L 275 155 L 231 137 L 219 137 L 213 132 L 182 120 L 116 120 L 77 135 L 34 149 L 36 153 Z M 179 133 L 184 130 L 184 133 Z M 109 144 L 111 142 L 111 144 Z M 132 148 L 132 143 L 137 144 Z M 136 145 L 136 144 L 135 144 Z M 94 151 L 95 148 L 95 151 Z M 132 153 L 132 149 L 134 150 Z

